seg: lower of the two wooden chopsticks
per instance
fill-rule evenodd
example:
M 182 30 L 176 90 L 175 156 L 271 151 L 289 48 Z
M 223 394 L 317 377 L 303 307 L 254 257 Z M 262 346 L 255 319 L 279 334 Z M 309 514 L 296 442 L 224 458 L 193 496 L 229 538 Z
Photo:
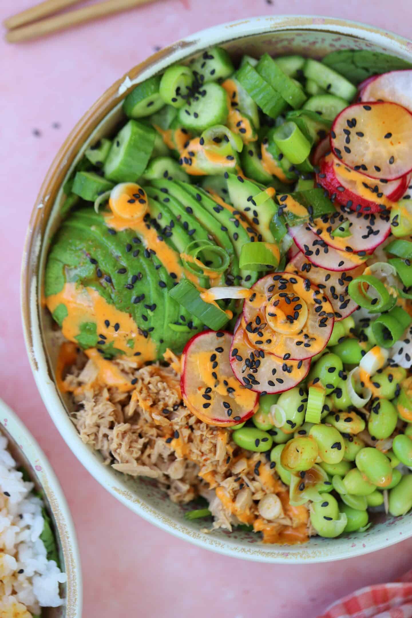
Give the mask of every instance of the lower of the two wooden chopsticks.
M 106 17 L 106 15 L 119 13 L 120 11 L 127 11 L 141 4 L 149 4 L 149 2 L 156 2 L 156 0 L 106 0 L 106 2 L 92 4 L 83 9 L 77 9 L 61 15 L 54 15 L 54 17 L 48 17 L 39 22 L 33 22 L 21 28 L 9 30 L 5 38 L 9 43 L 20 43 L 33 38 L 39 38 L 40 36 L 49 35 L 57 30 L 71 28 L 79 23 L 90 22 L 99 17 Z

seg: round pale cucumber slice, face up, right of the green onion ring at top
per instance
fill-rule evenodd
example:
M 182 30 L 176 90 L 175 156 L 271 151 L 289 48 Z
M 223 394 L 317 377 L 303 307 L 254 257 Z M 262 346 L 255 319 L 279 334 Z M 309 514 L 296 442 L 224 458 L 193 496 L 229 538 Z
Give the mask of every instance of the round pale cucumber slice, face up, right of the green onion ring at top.
M 226 91 L 217 83 L 208 83 L 179 109 L 178 119 L 186 129 L 201 132 L 214 124 L 225 124 L 228 114 Z

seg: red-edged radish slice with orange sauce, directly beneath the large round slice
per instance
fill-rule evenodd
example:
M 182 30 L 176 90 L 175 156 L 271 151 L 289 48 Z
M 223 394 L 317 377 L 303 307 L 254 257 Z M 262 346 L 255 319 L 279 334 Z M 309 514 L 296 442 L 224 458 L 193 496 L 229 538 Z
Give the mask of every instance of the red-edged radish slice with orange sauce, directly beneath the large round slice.
M 361 213 L 380 213 L 392 207 L 405 193 L 409 175 L 390 182 L 376 182 L 344 166 L 330 153 L 319 162 L 316 182 L 334 196 L 334 201 Z

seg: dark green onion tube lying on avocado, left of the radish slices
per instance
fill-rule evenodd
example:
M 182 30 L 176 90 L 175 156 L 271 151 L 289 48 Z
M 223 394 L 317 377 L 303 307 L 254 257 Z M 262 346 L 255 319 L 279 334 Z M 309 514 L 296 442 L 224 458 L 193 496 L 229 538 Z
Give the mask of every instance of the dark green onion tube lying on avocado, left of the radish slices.
M 182 279 L 177 286 L 172 287 L 169 296 L 213 331 L 219 331 L 229 322 L 229 316 L 220 307 L 200 298 L 199 290 L 188 279 Z

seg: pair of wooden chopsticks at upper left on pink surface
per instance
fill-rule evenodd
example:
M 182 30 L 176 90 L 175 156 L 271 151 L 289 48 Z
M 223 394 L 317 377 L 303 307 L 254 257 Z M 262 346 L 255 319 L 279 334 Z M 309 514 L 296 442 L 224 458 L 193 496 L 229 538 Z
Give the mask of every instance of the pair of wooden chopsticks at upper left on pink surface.
M 141 4 L 155 0 L 106 0 L 98 4 L 59 13 L 82 0 L 44 0 L 27 11 L 22 11 L 3 22 L 7 28 L 6 41 L 20 43 L 40 36 L 46 36 L 57 30 L 65 30 L 79 23 L 90 22 L 99 17 L 106 17 L 120 11 L 127 11 Z

